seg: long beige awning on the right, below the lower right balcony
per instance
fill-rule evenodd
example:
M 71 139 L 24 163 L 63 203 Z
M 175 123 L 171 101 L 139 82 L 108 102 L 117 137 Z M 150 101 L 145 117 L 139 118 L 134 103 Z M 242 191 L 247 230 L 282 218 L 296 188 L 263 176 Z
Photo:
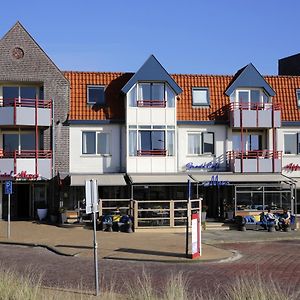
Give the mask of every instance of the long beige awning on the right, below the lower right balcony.
M 212 177 L 218 176 L 218 181 L 255 183 L 255 182 L 291 182 L 292 178 L 281 174 L 233 174 L 233 173 L 205 173 L 205 174 L 190 174 L 190 176 L 197 182 L 208 182 Z M 214 178 L 213 180 L 216 180 Z

